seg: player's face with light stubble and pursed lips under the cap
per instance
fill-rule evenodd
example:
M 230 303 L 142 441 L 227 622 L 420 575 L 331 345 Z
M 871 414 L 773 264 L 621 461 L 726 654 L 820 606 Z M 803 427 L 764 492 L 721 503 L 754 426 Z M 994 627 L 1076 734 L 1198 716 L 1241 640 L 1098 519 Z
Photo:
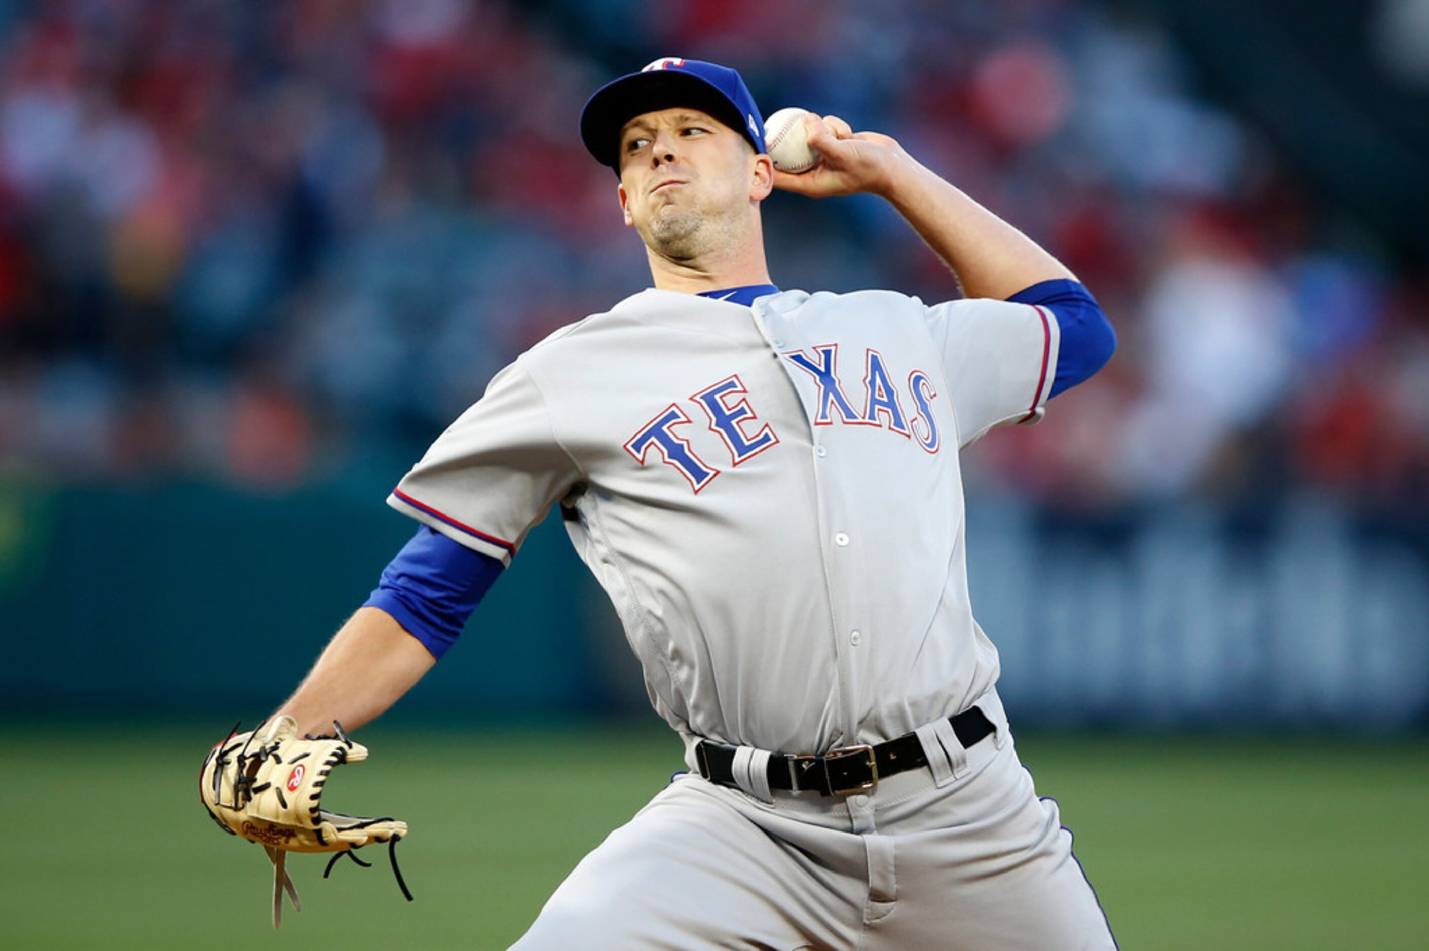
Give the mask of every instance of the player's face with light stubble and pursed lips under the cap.
M 697 109 L 636 116 L 620 131 L 620 207 L 659 254 L 692 260 L 757 227 L 773 187 L 767 156 Z

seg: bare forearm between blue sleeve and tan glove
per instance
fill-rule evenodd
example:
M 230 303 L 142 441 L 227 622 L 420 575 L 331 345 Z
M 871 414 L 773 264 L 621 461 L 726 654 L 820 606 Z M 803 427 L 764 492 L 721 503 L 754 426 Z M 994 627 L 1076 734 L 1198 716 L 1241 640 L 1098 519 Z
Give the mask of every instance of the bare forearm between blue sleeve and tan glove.
M 276 713 L 292 714 L 300 734 L 330 733 L 334 720 L 343 730 L 356 730 L 394 704 L 434 663 L 390 614 L 363 607 Z

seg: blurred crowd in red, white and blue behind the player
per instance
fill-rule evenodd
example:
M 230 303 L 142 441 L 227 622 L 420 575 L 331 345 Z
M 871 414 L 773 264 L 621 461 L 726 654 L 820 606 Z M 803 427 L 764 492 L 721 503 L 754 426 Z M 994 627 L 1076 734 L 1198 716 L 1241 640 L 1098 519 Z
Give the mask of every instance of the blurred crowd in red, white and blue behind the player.
M 1112 317 L 1109 367 L 1046 424 L 970 453 L 970 497 L 1010 500 L 1040 520 L 1029 531 L 1072 520 L 1092 545 L 1146 513 L 1253 523 L 1292 504 L 1312 514 L 1280 548 L 1302 554 L 1326 537 L 1313 525 L 1339 525 L 1348 554 L 1303 578 L 1399 578 L 1379 623 L 1410 640 L 1375 670 L 1408 678 L 1389 718 L 1415 721 L 1429 707 L 1413 620 L 1429 597 L 1429 4 L 1322 6 L 0 3 L 0 481 L 392 484 L 499 367 L 647 284 L 576 120 L 600 83 L 657 56 L 712 59 L 766 114 L 799 104 L 893 134 Z M 875 200 L 766 210 L 783 287 L 956 294 Z M 1240 535 L 1185 518 L 1163 547 L 1223 551 L 1226 577 L 1245 575 Z M 1370 530 L 1400 547 L 1366 554 Z M 1223 584 L 1208 584 L 1213 600 Z M 1282 584 L 1285 610 L 1298 584 Z M 1335 601 L 1332 667 L 1383 604 L 1355 597 Z M 1256 608 L 1246 625 L 1266 611 L 1282 617 Z M 1016 653 L 1020 628 L 1005 628 Z M 1177 657 L 1166 670 L 1185 673 Z M 1272 677 L 1246 671 L 1246 690 Z

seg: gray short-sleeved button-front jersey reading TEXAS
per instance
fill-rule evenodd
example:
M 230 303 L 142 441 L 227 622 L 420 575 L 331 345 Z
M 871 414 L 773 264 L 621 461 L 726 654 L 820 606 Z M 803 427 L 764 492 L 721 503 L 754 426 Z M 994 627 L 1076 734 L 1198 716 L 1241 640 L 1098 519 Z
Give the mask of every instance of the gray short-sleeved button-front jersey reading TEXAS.
M 1026 304 L 647 290 L 506 367 L 389 503 L 503 561 L 562 505 L 687 741 L 879 743 L 997 677 L 957 450 L 1036 420 L 1056 356 Z

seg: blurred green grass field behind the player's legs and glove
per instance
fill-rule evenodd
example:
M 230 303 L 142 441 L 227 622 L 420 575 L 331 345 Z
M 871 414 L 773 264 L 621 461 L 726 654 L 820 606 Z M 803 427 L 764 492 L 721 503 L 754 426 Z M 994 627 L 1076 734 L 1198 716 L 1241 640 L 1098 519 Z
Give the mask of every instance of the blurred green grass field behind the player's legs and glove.
M 386 855 L 299 855 L 304 900 L 267 922 L 270 871 L 199 805 L 223 725 L 0 725 L 3 948 L 503 948 L 569 868 L 680 768 L 630 727 L 380 725 L 329 804 L 412 824 Z M 1429 744 L 1023 737 L 1123 948 L 1429 947 Z

